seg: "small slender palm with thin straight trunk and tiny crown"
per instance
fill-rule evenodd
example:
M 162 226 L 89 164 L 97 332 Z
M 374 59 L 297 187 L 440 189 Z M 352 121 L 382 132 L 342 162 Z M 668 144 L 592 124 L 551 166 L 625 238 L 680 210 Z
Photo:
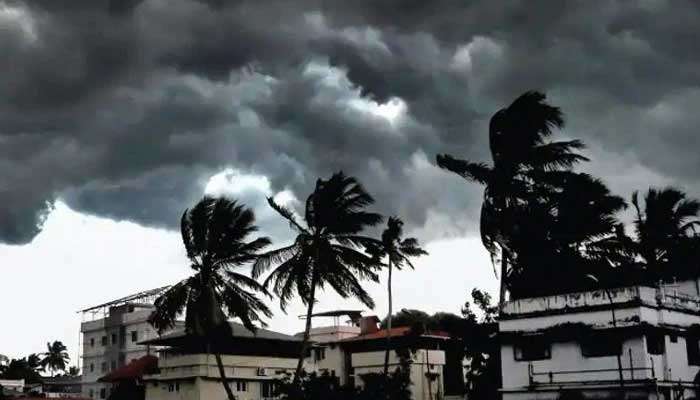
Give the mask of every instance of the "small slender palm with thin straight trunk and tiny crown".
M 368 252 L 375 257 L 387 259 L 388 277 L 387 277 L 387 293 L 389 300 L 389 310 L 387 313 L 387 336 L 386 350 L 384 352 L 384 376 L 389 374 L 389 353 L 391 349 L 391 323 L 393 313 L 393 297 L 391 291 L 391 278 L 393 268 L 401 270 L 404 266 L 413 268 L 411 257 L 418 257 L 428 254 L 420 248 L 418 240 L 415 238 L 402 238 L 403 236 L 403 221 L 397 217 L 390 217 L 387 220 L 386 229 L 382 232 L 381 246 L 369 247 Z

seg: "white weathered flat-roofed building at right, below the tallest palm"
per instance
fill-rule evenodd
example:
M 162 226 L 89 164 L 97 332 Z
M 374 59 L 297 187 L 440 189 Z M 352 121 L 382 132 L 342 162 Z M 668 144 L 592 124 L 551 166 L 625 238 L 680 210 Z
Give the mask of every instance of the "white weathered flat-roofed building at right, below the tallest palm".
M 499 321 L 504 400 L 695 397 L 695 281 L 507 302 Z M 614 314 L 614 319 L 613 319 Z

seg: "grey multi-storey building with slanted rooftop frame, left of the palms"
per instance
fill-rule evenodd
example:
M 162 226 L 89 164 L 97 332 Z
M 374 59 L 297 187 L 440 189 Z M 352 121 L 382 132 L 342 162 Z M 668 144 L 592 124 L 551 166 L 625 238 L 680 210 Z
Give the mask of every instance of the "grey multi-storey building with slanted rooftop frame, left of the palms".
M 153 311 L 153 301 L 166 289 L 136 293 L 81 311 L 84 397 L 106 399 L 111 384 L 99 382 L 99 378 L 149 354 L 149 346 L 139 342 L 158 336 L 148 317 Z

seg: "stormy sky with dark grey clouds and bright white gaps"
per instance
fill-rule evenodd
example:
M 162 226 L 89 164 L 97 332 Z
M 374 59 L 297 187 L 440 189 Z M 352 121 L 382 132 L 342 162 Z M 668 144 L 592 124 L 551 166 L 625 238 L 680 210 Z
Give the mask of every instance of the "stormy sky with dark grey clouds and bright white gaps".
M 699 195 L 697 26 L 692 0 L 0 0 L 0 353 L 75 357 L 78 309 L 185 276 L 175 229 L 203 193 L 281 244 L 264 197 L 341 169 L 430 251 L 398 308 L 458 312 L 497 282 L 481 188 L 435 154 L 488 161 L 491 114 L 538 89 L 617 193 Z

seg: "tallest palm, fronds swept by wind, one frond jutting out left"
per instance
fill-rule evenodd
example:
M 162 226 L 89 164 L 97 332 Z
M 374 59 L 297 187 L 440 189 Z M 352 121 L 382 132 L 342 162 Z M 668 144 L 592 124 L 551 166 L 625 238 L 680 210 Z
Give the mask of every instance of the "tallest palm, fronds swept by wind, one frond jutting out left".
M 546 173 L 568 169 L 587 158 L 575 152 L 578 140 L 548 142 L 555 128 L 564 126 L 558 107 L 540 92 L 526 92 L 496 112 L 489 123 L 489 147 L 493 164 L 437 156 L 437 165 L 464 179 L 486 186 L 481 208 L 481 240 L 494 264 L 500 258 L 500 302 L 505 301 L 508 263 L 514 257 L 510 233 L 517 221 L 512 210 L 537 195 L 535 180 Z

